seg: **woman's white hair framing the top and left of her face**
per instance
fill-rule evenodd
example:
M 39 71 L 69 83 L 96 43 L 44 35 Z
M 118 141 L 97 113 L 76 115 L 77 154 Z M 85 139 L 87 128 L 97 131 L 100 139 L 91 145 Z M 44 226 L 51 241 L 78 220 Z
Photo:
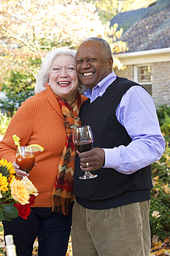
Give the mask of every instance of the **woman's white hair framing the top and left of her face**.
M 37 80 L 35 84 L 35 93 L 40 93 L 41 91 L 46 91 L 46 82 L 49 80 L 49 71 L 50 66 L 58 55 L 71 55 L 75 59 L 76 55 L 75 50 L 71 50 L 68 48 L 56 48 L 52 51 L 50 51 L 46 57 L 44 58 L 44 61 L 41 63 L 41 67 L 39 69 L 39 73 L 37 74 Z M 76 59 L 75 59 L 76 62 Z

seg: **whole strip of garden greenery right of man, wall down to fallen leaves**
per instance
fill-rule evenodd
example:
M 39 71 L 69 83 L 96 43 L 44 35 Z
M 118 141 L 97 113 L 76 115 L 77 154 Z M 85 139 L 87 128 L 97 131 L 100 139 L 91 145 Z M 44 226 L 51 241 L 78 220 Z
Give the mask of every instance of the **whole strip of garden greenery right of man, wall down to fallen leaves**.
M 159 237 L 162 241 L 170 237 L 170 145 L 169 126 L 170 108 L 160 106 L 157 110 L 160 128 L 163 132 L 166 149 L 160 161 L 152 165 L 153 189 L 151 190 L 151 237 Z

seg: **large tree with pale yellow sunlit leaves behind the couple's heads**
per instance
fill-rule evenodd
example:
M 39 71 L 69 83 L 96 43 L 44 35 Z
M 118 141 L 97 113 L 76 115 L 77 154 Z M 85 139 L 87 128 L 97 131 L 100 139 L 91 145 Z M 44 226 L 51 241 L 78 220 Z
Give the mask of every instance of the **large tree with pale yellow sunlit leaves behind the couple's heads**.
M 93 3 L 77 0 L 4 0 L 0 7 L 0 77 L 3 77 L 0 83 L 6 84 L 7 91 L 14 89 L 10 85 L 15 72 L 22 77 L 22 86 L 26 90 L 28 74 L 36 79 L 41 61 L 53 48 L 77 48 L 87 37 L 102 37 L 111 44 L 114 52 L 126 49 L 125 43 L 116 43 L 122 30 L 102 24 Z M 31 78 L 29 86 L 32 88 L 34 85 L 35 80 Z M 14 104 L 12 94 L 9 95 L 8 100 Z

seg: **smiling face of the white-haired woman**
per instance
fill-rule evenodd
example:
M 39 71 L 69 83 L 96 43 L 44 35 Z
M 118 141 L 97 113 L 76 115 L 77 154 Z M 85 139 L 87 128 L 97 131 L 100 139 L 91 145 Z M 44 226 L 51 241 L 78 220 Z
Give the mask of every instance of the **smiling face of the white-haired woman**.
M 76 62 L 71 55 L 58 55 L 53 60 L 49 71 L 50 88 L 59 97 L 70 104 L 75 99 L 79 80 Z

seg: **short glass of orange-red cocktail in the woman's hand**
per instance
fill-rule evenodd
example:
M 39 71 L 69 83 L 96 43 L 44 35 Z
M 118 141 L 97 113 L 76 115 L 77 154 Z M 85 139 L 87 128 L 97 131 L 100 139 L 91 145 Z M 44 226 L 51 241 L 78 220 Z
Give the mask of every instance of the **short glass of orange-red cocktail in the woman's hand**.
M 35 165 L 35 153 L 31 151 L 31 148 L 17 147 L 16 163 L 19 165 L 19 169 L 24 172 L 30 172 Z

